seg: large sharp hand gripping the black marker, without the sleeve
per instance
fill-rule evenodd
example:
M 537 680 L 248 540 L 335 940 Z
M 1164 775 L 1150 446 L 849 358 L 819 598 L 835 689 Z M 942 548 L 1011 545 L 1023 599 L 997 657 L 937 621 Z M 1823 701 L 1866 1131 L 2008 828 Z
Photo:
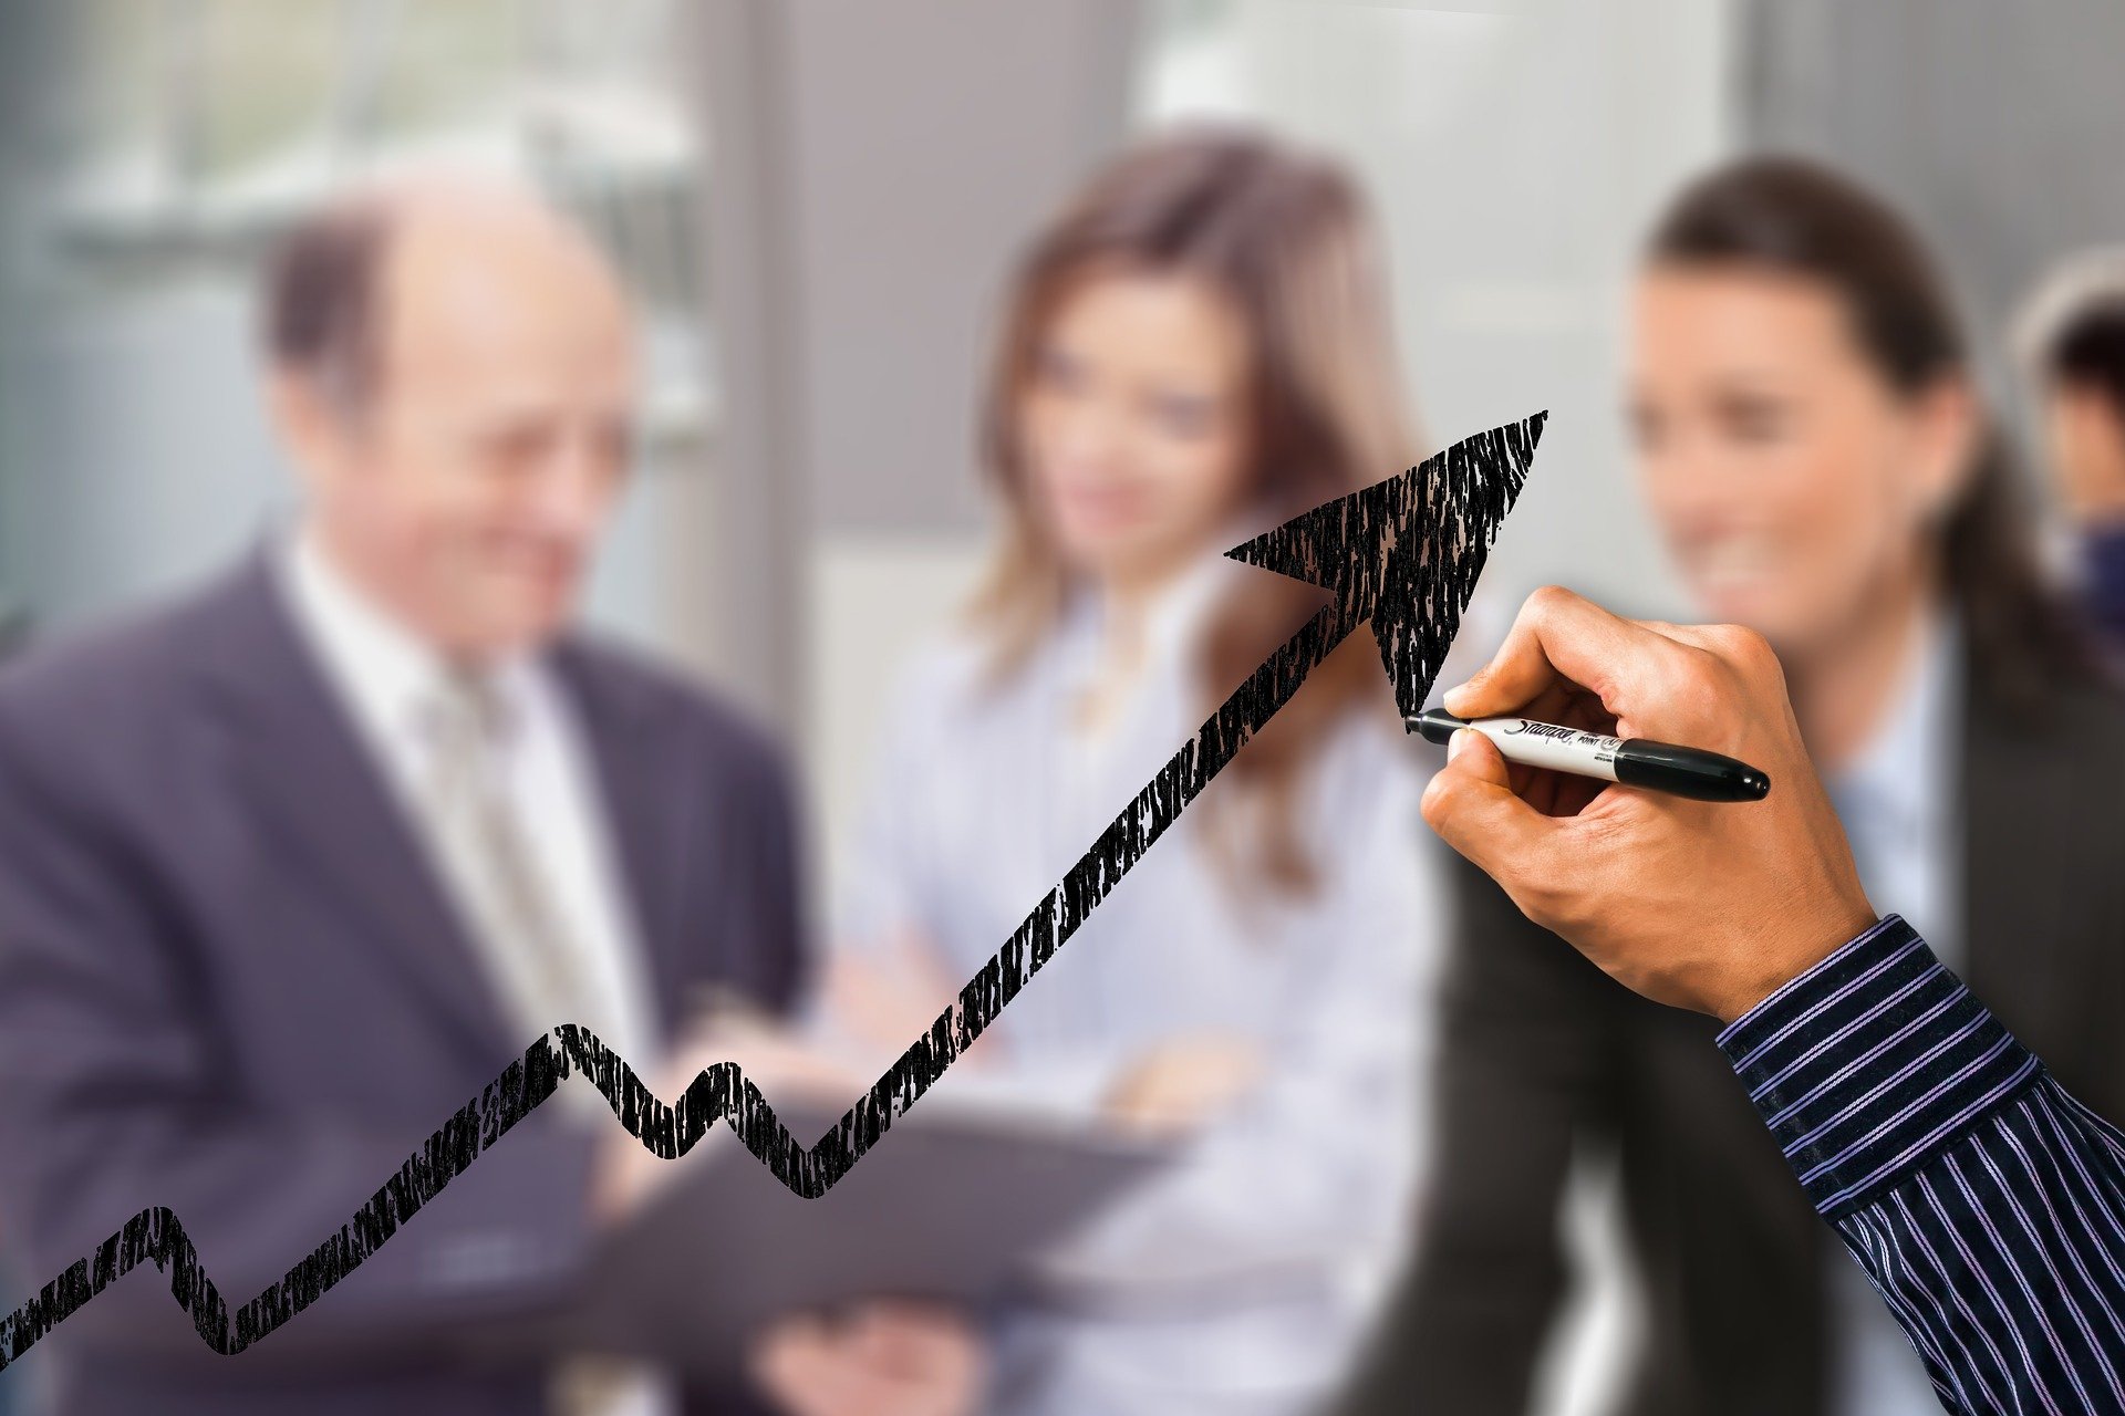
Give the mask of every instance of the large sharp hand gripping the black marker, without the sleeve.
M 1509 764 L 1479 732 L 1454 735 L 1424 819 L 1649 998 L 1734 1019 L 1874 923 L 1762 635 L 1621 620 L 1536 590 L 1447 711 L 1694 743 L 1779 783 L 1760 802 L 1711 805 Z

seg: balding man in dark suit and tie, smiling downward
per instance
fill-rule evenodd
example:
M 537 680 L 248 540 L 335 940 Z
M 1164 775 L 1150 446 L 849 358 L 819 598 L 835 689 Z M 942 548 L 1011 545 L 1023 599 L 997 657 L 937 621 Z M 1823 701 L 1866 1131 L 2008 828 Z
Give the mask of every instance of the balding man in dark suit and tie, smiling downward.
M 0 1225 L 38 1280 L 170 1206 L 244 1303 L 546 1028 L 665 1055 L 674 1095 L 731 1055 L 678 1002 L 799 983 L 776 749 L 570 628 L 633 405 L 593 246 L 402 180 L 293 234 L 264 344 L 300 524 L 0 677 Z M 750 1391 L 536 1344 L 669 1172 L 601 1108 L 572 1083 L 236 1359 L 132 1276 L 51 1337 L 57 1412 L 969 1405 L 967 1335 L 916 1310 L 793 1316 Z

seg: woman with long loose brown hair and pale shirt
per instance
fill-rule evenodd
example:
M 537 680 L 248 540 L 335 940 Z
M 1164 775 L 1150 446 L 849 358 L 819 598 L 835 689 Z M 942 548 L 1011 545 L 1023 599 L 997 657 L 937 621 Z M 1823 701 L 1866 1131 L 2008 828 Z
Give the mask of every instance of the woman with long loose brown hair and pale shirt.
M 986 401 L 1005 531 L 890 715 L 844 1036 L 926 1028 L 1313 614 L 1220 552 L 1415 461 L 1388 308 L 1352 180 L 1239 132 L 1126 153 L 1033 240 Z M 1354 637 L 965 1059 L 1184 1146 L 1001 1316 L 986 1410 L 1300 1412 L 1347 1367 L 1413 1172 L 1432 900 L 1400 739 Z

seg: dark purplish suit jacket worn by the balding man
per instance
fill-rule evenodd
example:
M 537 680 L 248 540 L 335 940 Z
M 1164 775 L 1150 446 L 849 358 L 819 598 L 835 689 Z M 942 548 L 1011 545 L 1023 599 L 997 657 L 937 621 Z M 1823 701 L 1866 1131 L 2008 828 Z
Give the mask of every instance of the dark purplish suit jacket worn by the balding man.
M 663 1025 L 701 983 L 786 1006 L 801 921 L 780 756 L 616 650 L 570 637 L 550 664 Z M 28 1282 L 168 1204 L 223 1297 L 249 1301 L 531 1042 L 264 554 L 0 675 L 0 1231 Z M 32 1352 L 57 1410 L 542 1412 L 542 1354 L 491 1350 L 584 1270 L 599 1127 L 561 1110 L 236 1359 L 198 1342 L 164 1276 L 132 1274 Z

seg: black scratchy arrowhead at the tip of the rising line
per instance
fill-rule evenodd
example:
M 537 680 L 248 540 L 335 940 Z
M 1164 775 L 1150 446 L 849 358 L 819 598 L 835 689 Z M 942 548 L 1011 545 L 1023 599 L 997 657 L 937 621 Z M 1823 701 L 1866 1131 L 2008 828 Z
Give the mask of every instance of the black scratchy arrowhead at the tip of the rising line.
M 1424 709 L 1504 514 L 1528 480 L 1547 412 L 1464 437 L 1417 467 L 1337 497 L 1224 552 L 1334 594 L 1373 622 L 1405 718 Z

